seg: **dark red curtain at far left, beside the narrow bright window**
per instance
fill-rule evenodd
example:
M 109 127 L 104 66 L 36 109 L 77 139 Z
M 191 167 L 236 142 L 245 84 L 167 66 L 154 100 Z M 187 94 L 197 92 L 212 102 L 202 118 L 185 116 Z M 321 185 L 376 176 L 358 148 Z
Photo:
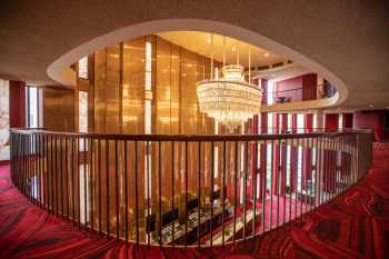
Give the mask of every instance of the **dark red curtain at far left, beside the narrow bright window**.
M 10 128 L 26 127 L 26 82 L 10 81 Z

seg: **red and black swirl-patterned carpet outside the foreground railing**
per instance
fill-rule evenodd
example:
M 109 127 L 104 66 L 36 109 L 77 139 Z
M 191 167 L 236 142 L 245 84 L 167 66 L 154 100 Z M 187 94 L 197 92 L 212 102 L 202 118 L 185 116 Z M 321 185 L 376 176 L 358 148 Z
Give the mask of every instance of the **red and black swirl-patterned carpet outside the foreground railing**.
M 0 166 L 0 258 L 389 258 L 389 143 L 375 143 L 368 176 L 332 205 L 291 227 L 205 249 L 126 246 L 31 205 Z

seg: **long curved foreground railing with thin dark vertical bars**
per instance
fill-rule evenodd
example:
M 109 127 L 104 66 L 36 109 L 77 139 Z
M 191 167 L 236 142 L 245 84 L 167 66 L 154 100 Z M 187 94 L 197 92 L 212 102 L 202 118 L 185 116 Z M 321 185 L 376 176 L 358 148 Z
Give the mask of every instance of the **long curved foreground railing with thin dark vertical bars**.
M 368 171 L 367 131 L 129 136 L 11 130 L 34 205 L 126 241 L 209 247 L 301 220 Z

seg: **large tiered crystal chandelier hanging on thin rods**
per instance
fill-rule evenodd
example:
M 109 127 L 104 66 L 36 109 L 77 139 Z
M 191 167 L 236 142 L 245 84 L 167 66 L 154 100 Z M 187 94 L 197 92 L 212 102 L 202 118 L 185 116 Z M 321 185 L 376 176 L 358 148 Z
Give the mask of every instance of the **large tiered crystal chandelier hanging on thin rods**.
M 211 36 L 211 77 L 197 82 L 200 111 L 228 127 L 232 132 L 241 122 L 258 114 L 261 108 L 261 89 L 251 83 L 251 53 L 249 49 L 249 82 L 245 80 L 243 67 L 237 63 L 226 64 L 226 38 L 223 38 L 222 77 L 213 77 L 213 34 Z

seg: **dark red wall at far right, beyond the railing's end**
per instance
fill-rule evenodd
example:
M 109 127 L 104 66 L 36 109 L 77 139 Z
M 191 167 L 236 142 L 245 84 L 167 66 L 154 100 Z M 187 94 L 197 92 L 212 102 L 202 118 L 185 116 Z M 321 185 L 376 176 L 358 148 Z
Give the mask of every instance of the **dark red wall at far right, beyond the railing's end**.
M 388 139 L 389 132 L 383 128 L 385 111 L 361 111 L 353 113 L 355 129 L 372 129 L 376 140 Z

